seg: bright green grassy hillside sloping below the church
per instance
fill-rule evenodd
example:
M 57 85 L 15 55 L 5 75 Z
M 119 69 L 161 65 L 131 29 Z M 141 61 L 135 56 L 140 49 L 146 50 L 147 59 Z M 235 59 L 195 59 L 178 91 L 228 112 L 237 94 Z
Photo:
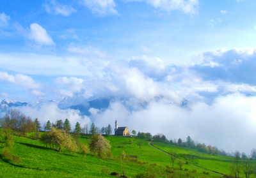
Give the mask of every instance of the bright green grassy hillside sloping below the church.
M 79 153 L 74 156 L 68 151 L 53 151 L 46 149 L 38 140 L 15 137 L 14 153 L 20 157 L 20 163 L 14 163 L 2 155 L 0 148 L 0 177 L 113 177 L 111 172 L 122 172 L 122 161 L 118 156 L 124 151 L 127 155 L 137 156 L 137 159 L 129 159 L 125 163 L 125 175 L 135 177 L 141 172 L 150 172 L 156 177 L 221 177 L 221 175 L 207 172 L 190 164 L 185 164 L 179 170 L 175 164 L 172 168 L 170 156 L 148 144 L 148 140 L 141 140 L 141 148 L 136 144 L 140 138 L 106 137 L 111 144 L 113 156 L 100 159 L 96 154 L 88 154 L 85 158 Z M 90 142 L 90 137 L 81 137 L 79 142 Z M 173 147 L 175 145 L 154 142 L 154 145 L 169 151 L 170 147 L 177 149 L 180 158 L 190 163 L 195 163 L 210 170 L 218 170 L 227 173 L 230 158 L 215 158 L 211 155 L 203 155 L 196 151 L 186 151 L 185 148 Z M 188 159 L 185 154 L 200 156 L 197 159 Z M 183 155 L 183 157 L 182 157 Z M 207 157 L 209 156 L 209 157 Z M 201 159 L 202 158 L 202 159 Z M 211 159 L 210 159 L 211 158 Z M 225 165 L 225 168 L 221 168 Z M 168 168 L 166 168 L 166 165 Z M 220 165 L 216 167 L 216 165 Z M 186 169 L 186 170 L 185 170 Z M 166 172 L 166 170 L 168 170 Z M 170 173 L 171 172 L 171 173 Z M 204 172 L 204 173 L 203 173 Z M 208 175 L 209 174 L 209 175 Z

